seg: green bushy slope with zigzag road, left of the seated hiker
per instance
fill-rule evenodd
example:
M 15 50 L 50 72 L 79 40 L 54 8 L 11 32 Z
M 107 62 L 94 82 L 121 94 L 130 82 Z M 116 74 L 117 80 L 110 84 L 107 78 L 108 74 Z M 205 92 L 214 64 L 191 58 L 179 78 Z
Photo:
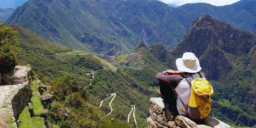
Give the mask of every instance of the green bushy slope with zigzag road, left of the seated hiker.
M 116 57 L 119 58 L 117 71 L 111 71 L 106 67 L 107 61 L 102 63 L 103 60 L 92 53 L 53 44 L 27 29 L 11 26 L 20 32 L 19 64 L 29 63 L 36 77 L 55 96 L 56 100 L 49 108 L 50 123 L 60 127 L 147 127 L 149 98 L 157 96 L 155 75 L 166 67 L 146 47 L 138 46 L 135 51 L 141 55 L 143 65 L 140 68 L 129 68 L 131 65 L 136 67 L 138 60 L 130 60 L 128 64 L 129 59 L 125 58 L 129 55 L 123 54 Z M 126 64 L 121 67 L 123 59 Z M 113 111 L 107 116 L 110 112 L 108 103 L 112 98 L 104 99 L 112 93 L 116 94 L 112 102 Z M 101 100 L 104 102 L 98 108 Z M 136 107 L 137 124 L 133 117 L 127 123 L 131 105 Z M 61 118 L 58 108 L 68 108 L 70 116 Z

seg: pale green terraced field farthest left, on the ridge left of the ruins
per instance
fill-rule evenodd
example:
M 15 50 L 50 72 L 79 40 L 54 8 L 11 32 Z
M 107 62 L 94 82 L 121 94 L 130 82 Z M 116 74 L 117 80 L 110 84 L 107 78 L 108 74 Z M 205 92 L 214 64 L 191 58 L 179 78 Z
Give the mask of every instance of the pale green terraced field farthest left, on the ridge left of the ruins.
M 56 53 L 55 55 L 57 56 L 56 59 L 65 59 L 70 56 L 76 56 L 76 55 L 87 55 L 90 54 L 89 52 L 82 52 L 78 50 L 73 50 L 69 52 L 61 52 L 61 53 Z

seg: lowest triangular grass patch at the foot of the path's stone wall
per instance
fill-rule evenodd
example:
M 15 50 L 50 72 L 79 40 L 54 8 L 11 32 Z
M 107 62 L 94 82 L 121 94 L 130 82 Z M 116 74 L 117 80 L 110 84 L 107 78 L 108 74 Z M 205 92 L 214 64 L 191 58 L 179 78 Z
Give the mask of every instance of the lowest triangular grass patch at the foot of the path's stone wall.
M 32 118 L 30 117 L 27 106 L 23 109 L 22 113 L 20 114 L 19 120 L 19 128 L 36 128 L 36 126 L 33 124 Z

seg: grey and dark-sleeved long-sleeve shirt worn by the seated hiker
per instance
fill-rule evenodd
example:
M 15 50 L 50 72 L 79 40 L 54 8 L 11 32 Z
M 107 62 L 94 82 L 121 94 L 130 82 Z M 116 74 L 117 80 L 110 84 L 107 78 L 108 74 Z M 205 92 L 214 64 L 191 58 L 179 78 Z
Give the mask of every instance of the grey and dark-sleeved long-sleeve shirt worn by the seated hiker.
M 200 75 L 198 73 L 191 74 L 193 78 L 198 78 Z M 203 73 L 204 77 L 205 74 Z M 180 75 L 163 75 L 158 73 L 156 78 L 159 82 L 162 82 L 174 89 L 174 93 L 177 93 L 177 110 L 180 115 L 187 116 L 188 112 L 185 106 L 188 105 L 191 86 L 188 81 Z

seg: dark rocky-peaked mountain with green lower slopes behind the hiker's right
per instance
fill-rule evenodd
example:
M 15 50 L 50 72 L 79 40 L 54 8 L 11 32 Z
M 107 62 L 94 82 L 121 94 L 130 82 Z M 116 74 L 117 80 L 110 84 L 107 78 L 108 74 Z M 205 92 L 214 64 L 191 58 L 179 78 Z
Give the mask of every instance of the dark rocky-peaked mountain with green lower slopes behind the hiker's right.
M 162 44 L 150 46 L 149 51 L 171 67 L 184 52 L 194 52 L 214 88 L 212 116 L 255 126 L 255 44 L 256 35 L 203 14 L 172 52 Z

